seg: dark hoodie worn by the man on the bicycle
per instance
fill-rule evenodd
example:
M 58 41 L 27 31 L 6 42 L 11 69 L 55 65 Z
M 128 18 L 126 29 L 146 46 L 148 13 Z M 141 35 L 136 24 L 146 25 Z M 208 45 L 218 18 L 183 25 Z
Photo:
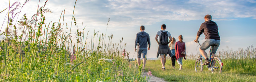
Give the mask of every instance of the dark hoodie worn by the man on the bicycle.
M 200 36 L 202 33 L 205 35 L 205 39 L 216 39 L 220 40 L 218 25 L 214 21 L 205 21 L 201 24 L 197 36 Z

